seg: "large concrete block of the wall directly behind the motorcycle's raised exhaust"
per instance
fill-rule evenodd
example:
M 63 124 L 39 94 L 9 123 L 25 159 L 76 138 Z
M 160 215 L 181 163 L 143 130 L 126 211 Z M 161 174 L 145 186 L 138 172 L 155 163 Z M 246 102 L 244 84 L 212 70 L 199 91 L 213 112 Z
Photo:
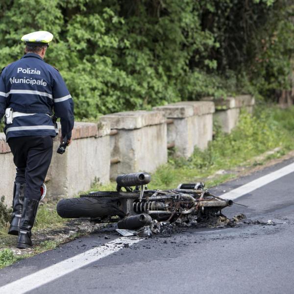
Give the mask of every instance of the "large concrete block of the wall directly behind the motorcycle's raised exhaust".
M 154 172 L 167 162 L 167 124 L 159 111 L 126 111 L 105 115 L 110 123 L 110 177 L 120 173 Z

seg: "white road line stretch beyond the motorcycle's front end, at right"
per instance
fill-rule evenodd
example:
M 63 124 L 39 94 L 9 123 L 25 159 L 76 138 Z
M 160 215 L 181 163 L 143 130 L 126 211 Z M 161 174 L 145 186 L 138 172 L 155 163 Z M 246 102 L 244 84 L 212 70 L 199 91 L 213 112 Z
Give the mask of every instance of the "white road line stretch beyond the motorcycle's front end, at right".
M 277 180 L 279 178 L 281 178 L 282 176 L 284 175 L 287 175 L 291 172 L 294 172 L 294 163 L 284 167 L 284 168 L 281 168 L 275 172 L 270 172 L 256 180 L 253 180 L 239 188 L 236 188 L 234 190 L 231 190 L 225 194 L 222 194 L 221 195 L 221 198 L 224 198 L 224 199 L 231 199 L 231 200 L 234 200 L 238 197 L 241 197 L 245 194 L 248 194 L 262 186 L 265 186 L 267 184 L 269 184 L 270 182 L 274 181 L 274 180 Z

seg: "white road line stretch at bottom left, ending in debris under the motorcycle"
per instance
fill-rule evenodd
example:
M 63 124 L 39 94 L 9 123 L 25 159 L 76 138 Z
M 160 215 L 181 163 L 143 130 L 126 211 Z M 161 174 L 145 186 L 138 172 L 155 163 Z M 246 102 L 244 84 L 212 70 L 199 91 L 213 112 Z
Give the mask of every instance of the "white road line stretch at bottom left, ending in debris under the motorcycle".
M 55 279 L 58 279 L 74 270 L 80 269 L 84 266 L 89 265 L 92 262 L 98 261 L 99 259 L 106 257 L 112 253 L 115 253 L 123 248 L 123 244 L 128 243 L 134 245 L 140 242 L 142 239 L 130 239 L 127 237 L 121 237 L 104 246 L 99 246 L 90 249 L 86 252 L 75 255 L 71 258 L 63 260 L 55 265 L 49 266 L 43 270 L 38 270 L 32 274 L 29 274 L 19 280 L 9 283 L 5 286 L 0 287 L 1 294 L 24 294 L 28 291 L 34 290 L 38 287 L 45 285 Z

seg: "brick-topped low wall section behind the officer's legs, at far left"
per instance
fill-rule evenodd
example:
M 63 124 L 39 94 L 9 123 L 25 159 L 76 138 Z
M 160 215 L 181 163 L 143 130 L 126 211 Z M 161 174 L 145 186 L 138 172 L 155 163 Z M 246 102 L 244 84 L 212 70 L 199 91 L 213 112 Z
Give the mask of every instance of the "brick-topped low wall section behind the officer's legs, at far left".
M 54 138 L 53 156 L 45 183 L 47 196 L 74 196 L 91 183 L 109 182 L 110 127 L 107 123 L 75 123 L 73 142 L 64 154 L 56 153 L 60 135 Z M 15 166 L 5 136 L 0 134 L 0 196 L 11 205 Z

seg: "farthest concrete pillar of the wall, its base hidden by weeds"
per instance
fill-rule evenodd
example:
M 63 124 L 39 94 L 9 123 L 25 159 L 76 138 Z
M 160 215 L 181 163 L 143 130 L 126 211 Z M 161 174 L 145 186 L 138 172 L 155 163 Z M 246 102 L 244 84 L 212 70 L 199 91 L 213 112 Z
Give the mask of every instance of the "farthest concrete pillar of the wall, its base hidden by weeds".
M 218 99 L 205 97 L 203 99 L 215 102 L 216 112 L 214 114 L 214 120 L 221 124 L 222 130 L 226 133 L 230 133 L 237 125 L 241 108 L 252 113 L 255 103 L 254 97 L 250 95 Z

